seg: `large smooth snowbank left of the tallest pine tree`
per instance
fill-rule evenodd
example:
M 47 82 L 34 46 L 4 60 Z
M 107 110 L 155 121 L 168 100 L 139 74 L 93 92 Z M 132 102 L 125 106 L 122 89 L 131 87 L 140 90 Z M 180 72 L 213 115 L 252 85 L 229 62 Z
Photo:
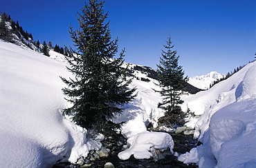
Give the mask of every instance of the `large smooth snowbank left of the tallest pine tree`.
M 0 62 L 0 167 L 51 167 L 100 147 L 61 114 L 64 63 L 3 41 Z

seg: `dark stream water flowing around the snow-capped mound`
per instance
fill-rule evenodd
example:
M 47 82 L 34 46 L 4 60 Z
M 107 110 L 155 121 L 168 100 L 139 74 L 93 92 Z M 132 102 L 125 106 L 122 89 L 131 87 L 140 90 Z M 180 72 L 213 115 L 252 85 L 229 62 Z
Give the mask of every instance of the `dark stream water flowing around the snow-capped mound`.
M 185 154 L 186 151 L 190 151 L 192 147 L 195 147 L 196 140 L 193 139 L 192 135 L 183 135 L 183 134 L 170 134 L 174 140 L 174 152 L 178 152 L 179 154 Z M 103 142 L 105 146 L 107 146 L 108 142 Z M 170 151 L 164 151 L 161 154 L 165 156 L 165 158 L 161 160 L 156 159 L 135 159 L 134 156 L 131 156 L 128 160 L 120 160 L 118 158 L 118 153 L 122 151 L 121 146 L 111 145 L 111 154 L 108 158 L 101 158 L 101 160 L 96 160 L 93 162 L 91 167 L 104 167 L 106 162 L 111 162 L 115 167 L 131 167 L 131 168 L 143 168 L 143 167 L 197 167 L 194 164 L 185 165 L 183 162 L 179 162 L 176 156 L 170 154 Z M 54 168 L 57 167 L 80 167 L 79 165 L 74 165 L 71 163 L 63 163 L 62 165 L 58 164 L 53 166 Z

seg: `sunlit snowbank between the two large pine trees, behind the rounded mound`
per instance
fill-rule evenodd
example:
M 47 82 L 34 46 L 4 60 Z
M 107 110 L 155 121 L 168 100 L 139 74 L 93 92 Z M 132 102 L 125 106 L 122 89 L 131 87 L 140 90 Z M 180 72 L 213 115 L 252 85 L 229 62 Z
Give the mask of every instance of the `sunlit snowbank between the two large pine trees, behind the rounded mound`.
M 156 83 L 156 81 L 154 82 Z M 152 123 L 156 127 L 158 118 L 163 116 L 163 110 L 157 107 L 158 102 L 161 101 L 161 96 L 152 90 L 152 88 L 158 89 L 154 82 L 147 83 L 134 79 L 129 87 L 137 88 L 137 96 L 123 107 L 122 114 L 113 118 L 115 123 L 125 121 L 121 131 L 128 139 L 129 145 L 134 142 L 137 134 L 147 131 L 146 125 Z

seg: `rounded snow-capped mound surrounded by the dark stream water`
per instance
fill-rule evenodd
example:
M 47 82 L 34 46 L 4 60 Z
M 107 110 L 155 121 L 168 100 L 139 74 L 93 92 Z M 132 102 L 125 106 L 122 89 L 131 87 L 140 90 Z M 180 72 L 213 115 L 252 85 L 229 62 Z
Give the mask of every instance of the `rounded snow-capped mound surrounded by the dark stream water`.
M 168 147 L 173 154 L 174 141 L 169 134 L 163 132 L 141 132 L 136 135 L 134 143 L 129 149 L 118 154 L 118 158 L 127 160 L 131 155 L 134 155 L 136 159 L 148 159 L 152 157 L 150 149 L 164 151 Z

